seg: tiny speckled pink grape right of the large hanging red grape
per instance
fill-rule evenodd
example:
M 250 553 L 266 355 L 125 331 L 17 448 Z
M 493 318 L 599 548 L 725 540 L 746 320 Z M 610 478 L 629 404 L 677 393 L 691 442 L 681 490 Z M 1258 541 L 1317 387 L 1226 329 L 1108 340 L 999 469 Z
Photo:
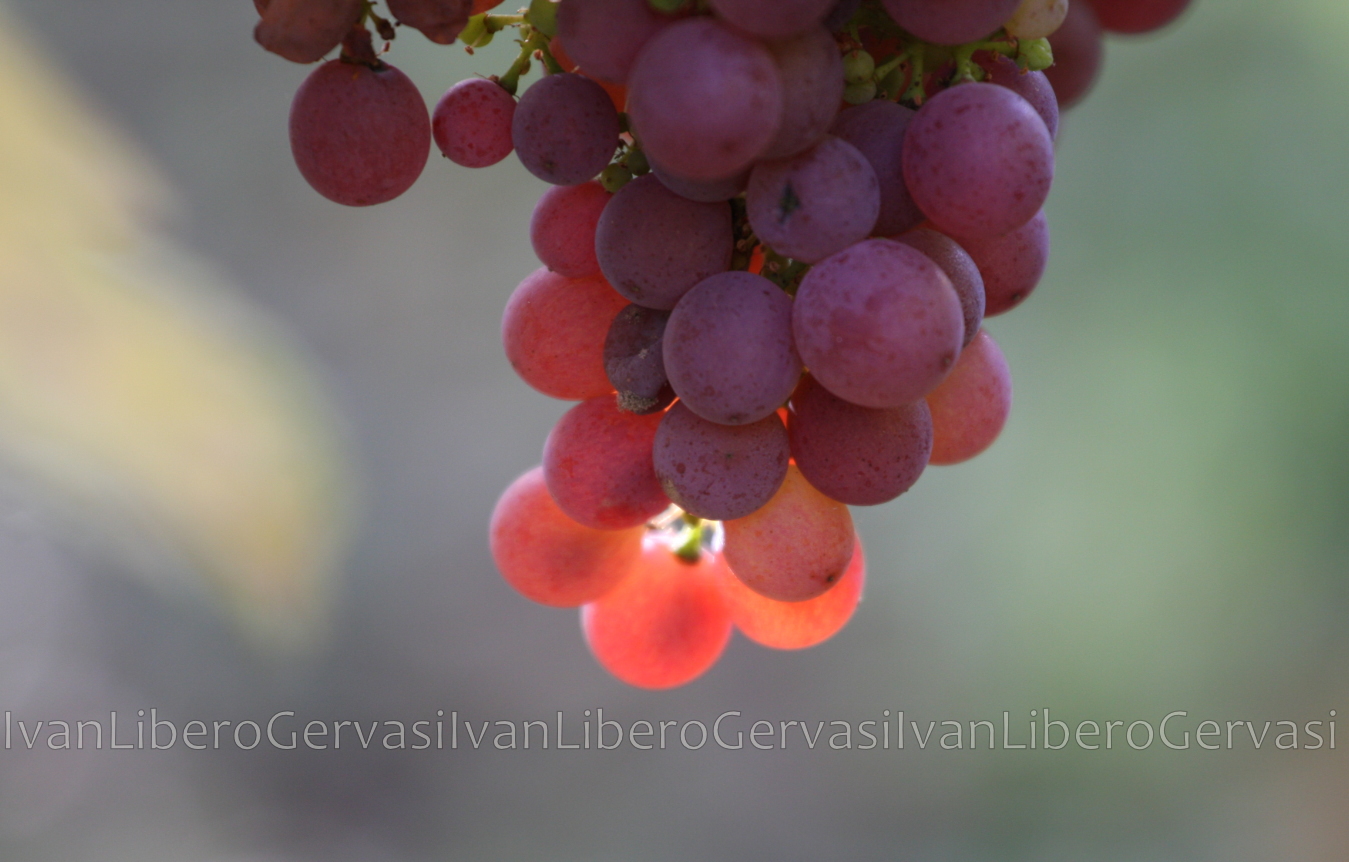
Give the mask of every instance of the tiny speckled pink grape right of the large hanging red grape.
M 487 167 L 515 148 L 510 139 L 514 116 L 514 96 L 487 78 L 468 78 L 441 96 L 432 112 L 430 131 L 451 162 Z

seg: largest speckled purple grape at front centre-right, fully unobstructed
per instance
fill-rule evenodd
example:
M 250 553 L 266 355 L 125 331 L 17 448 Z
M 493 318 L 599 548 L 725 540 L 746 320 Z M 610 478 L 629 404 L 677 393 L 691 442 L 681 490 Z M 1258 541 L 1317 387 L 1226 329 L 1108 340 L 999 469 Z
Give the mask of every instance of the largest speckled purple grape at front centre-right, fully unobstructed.
M 805 274 L 792 332 L 805 367 L 827 390 L 863 407 L 897 407 L 951 370 L 965 316 L 938 264 L 902 243 L 870 239 Z

